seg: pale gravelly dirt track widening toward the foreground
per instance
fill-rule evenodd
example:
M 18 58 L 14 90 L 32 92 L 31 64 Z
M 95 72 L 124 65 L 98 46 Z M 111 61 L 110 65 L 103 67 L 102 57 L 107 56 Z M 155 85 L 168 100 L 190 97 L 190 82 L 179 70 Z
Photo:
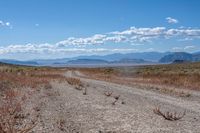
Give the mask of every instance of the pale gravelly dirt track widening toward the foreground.
M 84 87 L 51 82 L 38 89 L 31 104 L 37 105 L 36 133 L 199 133 L 200 98 L 172 97 L 154 91 L 84 78 L 78 71 L 66 77 L 80 78 Z M 86 94 L 84 90 L 87 88 Z M 112 92 L 106 96 L 105 92 Z M 199 92 L 197 92 L 199 93 Z M 118 100 L 116 100 L 118 97 Z M 115 102 L 115 104 L 113 104 Z M 178 121 L 165 120 L 153 109 L 182 113 Z

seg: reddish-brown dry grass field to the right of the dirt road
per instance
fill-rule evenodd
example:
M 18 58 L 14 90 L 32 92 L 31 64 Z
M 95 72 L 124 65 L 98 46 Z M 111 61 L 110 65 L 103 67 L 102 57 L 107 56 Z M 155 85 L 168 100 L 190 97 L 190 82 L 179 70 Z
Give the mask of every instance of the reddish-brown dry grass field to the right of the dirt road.
M 162 93 L 174 93 L 188 97 L 190 94 L 168 88 L 200 90 L 200 63 L 152 65 L 116 68 L 79 69 L 88 78 L 126 85 L 151 88 L 156 86 Z M 159 86 L 159 87 L 158 87 Z M 164 87 L 164 88 L 163 88 Z

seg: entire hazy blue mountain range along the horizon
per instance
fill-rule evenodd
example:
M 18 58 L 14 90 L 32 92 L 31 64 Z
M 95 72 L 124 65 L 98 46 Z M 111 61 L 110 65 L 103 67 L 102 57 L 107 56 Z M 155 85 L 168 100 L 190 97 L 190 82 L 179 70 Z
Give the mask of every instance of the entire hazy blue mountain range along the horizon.
M 180 61 L 200 61 L 200 52 L 186 53 L 186 52 L 142 52 L 142 53 L 115 53 L 108 55 L 91 55 L 78 56 L 73 58 L 61 59 L 38 59 L 29 61 L 19 61 L 11 59 L 0 59 L 0 62 L 17 64 L 17 65 L 31 65 L 31 66 L 59 66 L 59 65 L 113 65 L 113 64 L 154 64 L 154 63 L 172 63 L 175 60 Z

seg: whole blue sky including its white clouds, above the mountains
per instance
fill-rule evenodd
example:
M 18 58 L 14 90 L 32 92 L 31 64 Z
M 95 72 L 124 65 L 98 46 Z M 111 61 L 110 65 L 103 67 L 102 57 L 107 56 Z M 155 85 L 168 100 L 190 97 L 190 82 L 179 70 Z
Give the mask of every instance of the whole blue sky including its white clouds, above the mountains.
M 2 0 L 0 58 L 200 51 L 199 0 Z

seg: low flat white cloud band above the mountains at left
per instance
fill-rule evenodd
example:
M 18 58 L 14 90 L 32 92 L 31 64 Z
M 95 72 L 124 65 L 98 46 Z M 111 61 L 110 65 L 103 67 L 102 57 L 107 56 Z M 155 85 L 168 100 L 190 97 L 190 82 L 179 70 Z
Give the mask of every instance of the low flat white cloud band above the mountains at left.
M 26 45 L 10 45 L 8 47 L 0 47 L 0 54 L 8 53 L 64 53 L 64 54 L 80 54 L 80 53 L 101 53 L 101 52 L 133 52 L 137 49 L 107 49 L 107 48 L 60 48 L 51 44 L 26 44 Z

